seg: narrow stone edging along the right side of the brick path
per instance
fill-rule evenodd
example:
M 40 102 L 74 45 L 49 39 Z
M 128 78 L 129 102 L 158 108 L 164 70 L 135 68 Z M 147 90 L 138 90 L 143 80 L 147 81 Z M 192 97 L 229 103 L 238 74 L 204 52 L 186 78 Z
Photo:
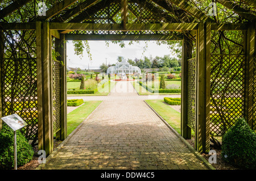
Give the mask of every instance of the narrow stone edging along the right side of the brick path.
M 162 116 L 160 116 L 145 100 L 143 100 L 143 101 L 144 101 L 144 103 L 147 104 L 148 107 L 151 108 L 152 111 L 155 112 L 155 114 L 163 121 L 163 123 L 166 124 L 167 127 L 170 128 L 171 131 L 174 132 L 174 133 L 176 134 L 176 136 L 179 137 L 180 140 L 184 142 L 184 144 L 189 148 L 189 150 L 191 150 L 192 153 L 195 154 L 196 157 L 199 158 L 200 161 L 203 162 L 204 165 L 208 167 L 208 169 L 210 169 L 210 170 L 216 170 L 212 165 L 210 165 L 210 163 L 209 163 L 198 151 L 196 151 L 196 150 L 193 148 L 193 146 L 191 146 L 191 144 L 189 144 L 174 128 L 172 128 L 171 125 L 168 124 L 167 121 L 164 120 Z

